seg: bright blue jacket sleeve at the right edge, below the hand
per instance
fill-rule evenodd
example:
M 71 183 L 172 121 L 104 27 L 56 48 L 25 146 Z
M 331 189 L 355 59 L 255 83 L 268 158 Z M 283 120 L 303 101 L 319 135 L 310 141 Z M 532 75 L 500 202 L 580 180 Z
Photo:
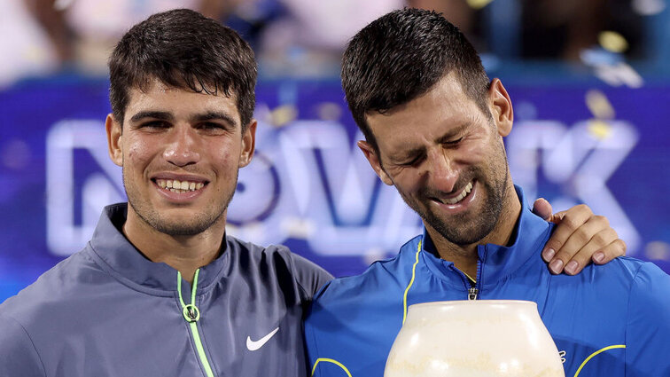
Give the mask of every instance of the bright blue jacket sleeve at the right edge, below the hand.
M 653 263 L 635 275 L 626 328 L 627 377 L 670 376 L 670 276 Z

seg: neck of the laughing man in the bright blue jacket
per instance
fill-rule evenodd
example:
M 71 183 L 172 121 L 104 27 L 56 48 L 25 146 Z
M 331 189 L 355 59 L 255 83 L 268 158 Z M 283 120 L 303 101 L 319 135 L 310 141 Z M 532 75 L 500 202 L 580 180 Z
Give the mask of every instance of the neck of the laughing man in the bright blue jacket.
M 514 185 L 510 182 L 503 198 L 503 210 L 498 216 L 498 222 L 495 224 L 494 230 L 479 242 L 470 245 L 456 245 L 442 237 L 431 226 L 426 224 L 425 228 L 440 258 L 453 262 L 458 270 L 463 271 L 472 279 L 476 279 L 479 258 L 477 246 L 486 244 L 509 246 L 514 227 L 520 215 L 521 202 L 516 190 L 514 190 Z

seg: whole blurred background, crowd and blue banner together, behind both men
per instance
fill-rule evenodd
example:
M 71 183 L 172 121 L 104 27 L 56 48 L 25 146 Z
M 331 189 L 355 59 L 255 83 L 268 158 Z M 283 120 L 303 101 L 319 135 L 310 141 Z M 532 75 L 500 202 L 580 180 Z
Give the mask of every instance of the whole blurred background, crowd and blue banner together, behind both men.
M 587 202 L 628 254 L 670 271 L 670 0 L 0 0 L 0 302 L 81 249 L 124 200 L 106 155 L 106 60 L 129 27 L 187 7 L 259 61 L 257 153 L 229 232 L 284 243 L 336 276 L 421 231 L 356 150 L 339 86 L 349 38 L 401 7 L 442 12 L 515 106 L 515 183 Z

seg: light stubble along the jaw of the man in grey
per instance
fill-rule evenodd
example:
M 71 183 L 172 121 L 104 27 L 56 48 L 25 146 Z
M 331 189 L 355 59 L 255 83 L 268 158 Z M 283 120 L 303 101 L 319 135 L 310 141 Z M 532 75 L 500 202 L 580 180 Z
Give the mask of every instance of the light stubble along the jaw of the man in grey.
M 129 206 L 133 208 L 144 224 L 148 224 L 157 232 L 170 236 L 194 236 L 211 228 L 225 215 L 230 200 L 232 200 L 235 194 L 235 187 L 238 185 L 238 171 L 236 171 L 235 185 L 232 186 L 233 189 L 230 192 L 223 193 L 224 200 L 221 201 L 219 206 L 214 207 L 216 203 L 212 202 L 202 211 L 188 219 L 168 220 L 164 216 L 161 216 L 160 212 L 156 208 L 153 208 L 147 200 L 143 200 L 133 185 L 127 184 L 129 180 L 125 179 L 125 174 L 123 177 L 123 186 L 128 197 Z

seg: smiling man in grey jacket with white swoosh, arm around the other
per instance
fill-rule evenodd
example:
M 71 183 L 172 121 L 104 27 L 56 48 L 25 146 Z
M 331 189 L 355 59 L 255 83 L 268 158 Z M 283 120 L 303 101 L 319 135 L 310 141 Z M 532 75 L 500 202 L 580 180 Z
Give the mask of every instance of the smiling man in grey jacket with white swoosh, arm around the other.
M 105 128 L 128 203 L 105 208 L 81 252 L 0 305 L 0 375 L 306 375 L 301 319 L 331 276 L 225 234 L 254 150 L 253 51 L 175 10 L 132 27 L 109 66 Z M 565 219 L 567 258 L 596 251 L 570 234 L 609 229 L 586 208 Z M 605 260 L 622 250 L 610 236 Z

